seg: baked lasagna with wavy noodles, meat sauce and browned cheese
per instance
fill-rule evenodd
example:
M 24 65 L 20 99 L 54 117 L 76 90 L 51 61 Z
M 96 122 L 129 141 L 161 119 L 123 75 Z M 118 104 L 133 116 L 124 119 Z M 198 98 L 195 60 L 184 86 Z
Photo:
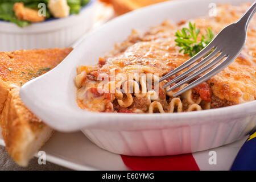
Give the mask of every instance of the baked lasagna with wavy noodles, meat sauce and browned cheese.
M 249 8 L 218 6 L 217 16 L 190 20 L 204 32 L 208 27 L 216 35 L 238 20 Z M 81 109 L 115 113 L 173 113 L 212 109 L 253 101 L 256 97 L 256 19 L 251 20 L 246 46 L 240 56 L 208 81 L 173 97 L 181 88 L 167 92 L 158 79 L 190 57 L 175 46 L 175 32 L 188 26 L 164 21 L 146 32 L 133 30 L 125 42 L 100 57 L 97 65 L 80 65 L 75 84 Z M 200 33 L 201 34 L 201 33 Z M 180 73 L 179 73 L 180 74 Z

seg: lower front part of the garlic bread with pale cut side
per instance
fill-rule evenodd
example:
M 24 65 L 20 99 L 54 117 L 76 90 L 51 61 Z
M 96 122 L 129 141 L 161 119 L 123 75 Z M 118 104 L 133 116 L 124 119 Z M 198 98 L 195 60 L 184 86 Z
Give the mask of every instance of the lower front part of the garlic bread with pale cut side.
M 20 166 L 27 166 L 29 159 L 53 133 L 23 105 L 19 88 L 9 92 L 0 122 L 6 150 Z

